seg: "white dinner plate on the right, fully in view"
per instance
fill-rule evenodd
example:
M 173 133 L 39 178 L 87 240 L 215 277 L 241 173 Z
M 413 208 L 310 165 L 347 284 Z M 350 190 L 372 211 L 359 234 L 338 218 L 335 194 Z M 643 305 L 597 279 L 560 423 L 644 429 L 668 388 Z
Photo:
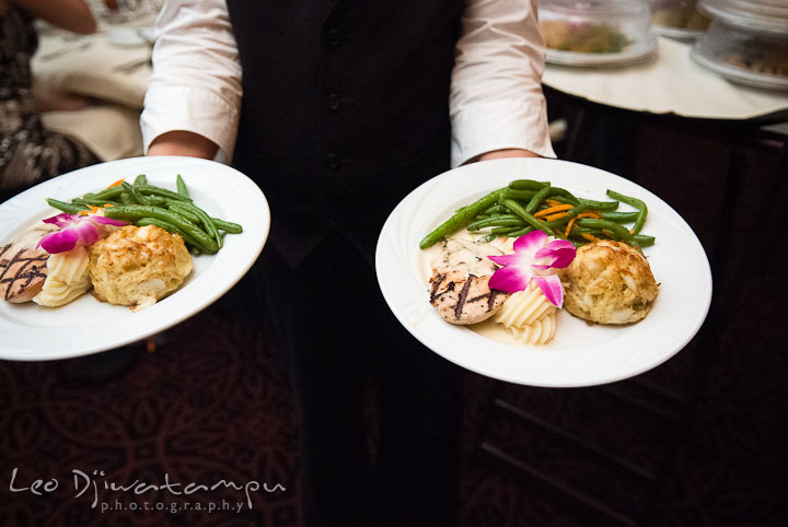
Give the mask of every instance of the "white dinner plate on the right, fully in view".
M 490 340 L 438 315 L 429 304 L 419 242 L 454 210 L 520 178 L 549 180 L 589 199 L 609 199 L 605 192 L 613 189 L 647 203 L 642 233 L 657 239 L 644 254 L 660 293 L 644 320 L 627 326 L 588 325 L 561 311 L 554 340 L 530 347 Z M 618 210 L 633 209 L 622 203 Z M 679 213 L 627 179 L 566 161 L 486 161 L 430 179 L 394 209 L 381 231 L 375 260 L 385 301 L 427 348 L 482 375 L 531 386 L 591 386 L 646 372 L 686 346 L 711 302 L 706 253 Z

